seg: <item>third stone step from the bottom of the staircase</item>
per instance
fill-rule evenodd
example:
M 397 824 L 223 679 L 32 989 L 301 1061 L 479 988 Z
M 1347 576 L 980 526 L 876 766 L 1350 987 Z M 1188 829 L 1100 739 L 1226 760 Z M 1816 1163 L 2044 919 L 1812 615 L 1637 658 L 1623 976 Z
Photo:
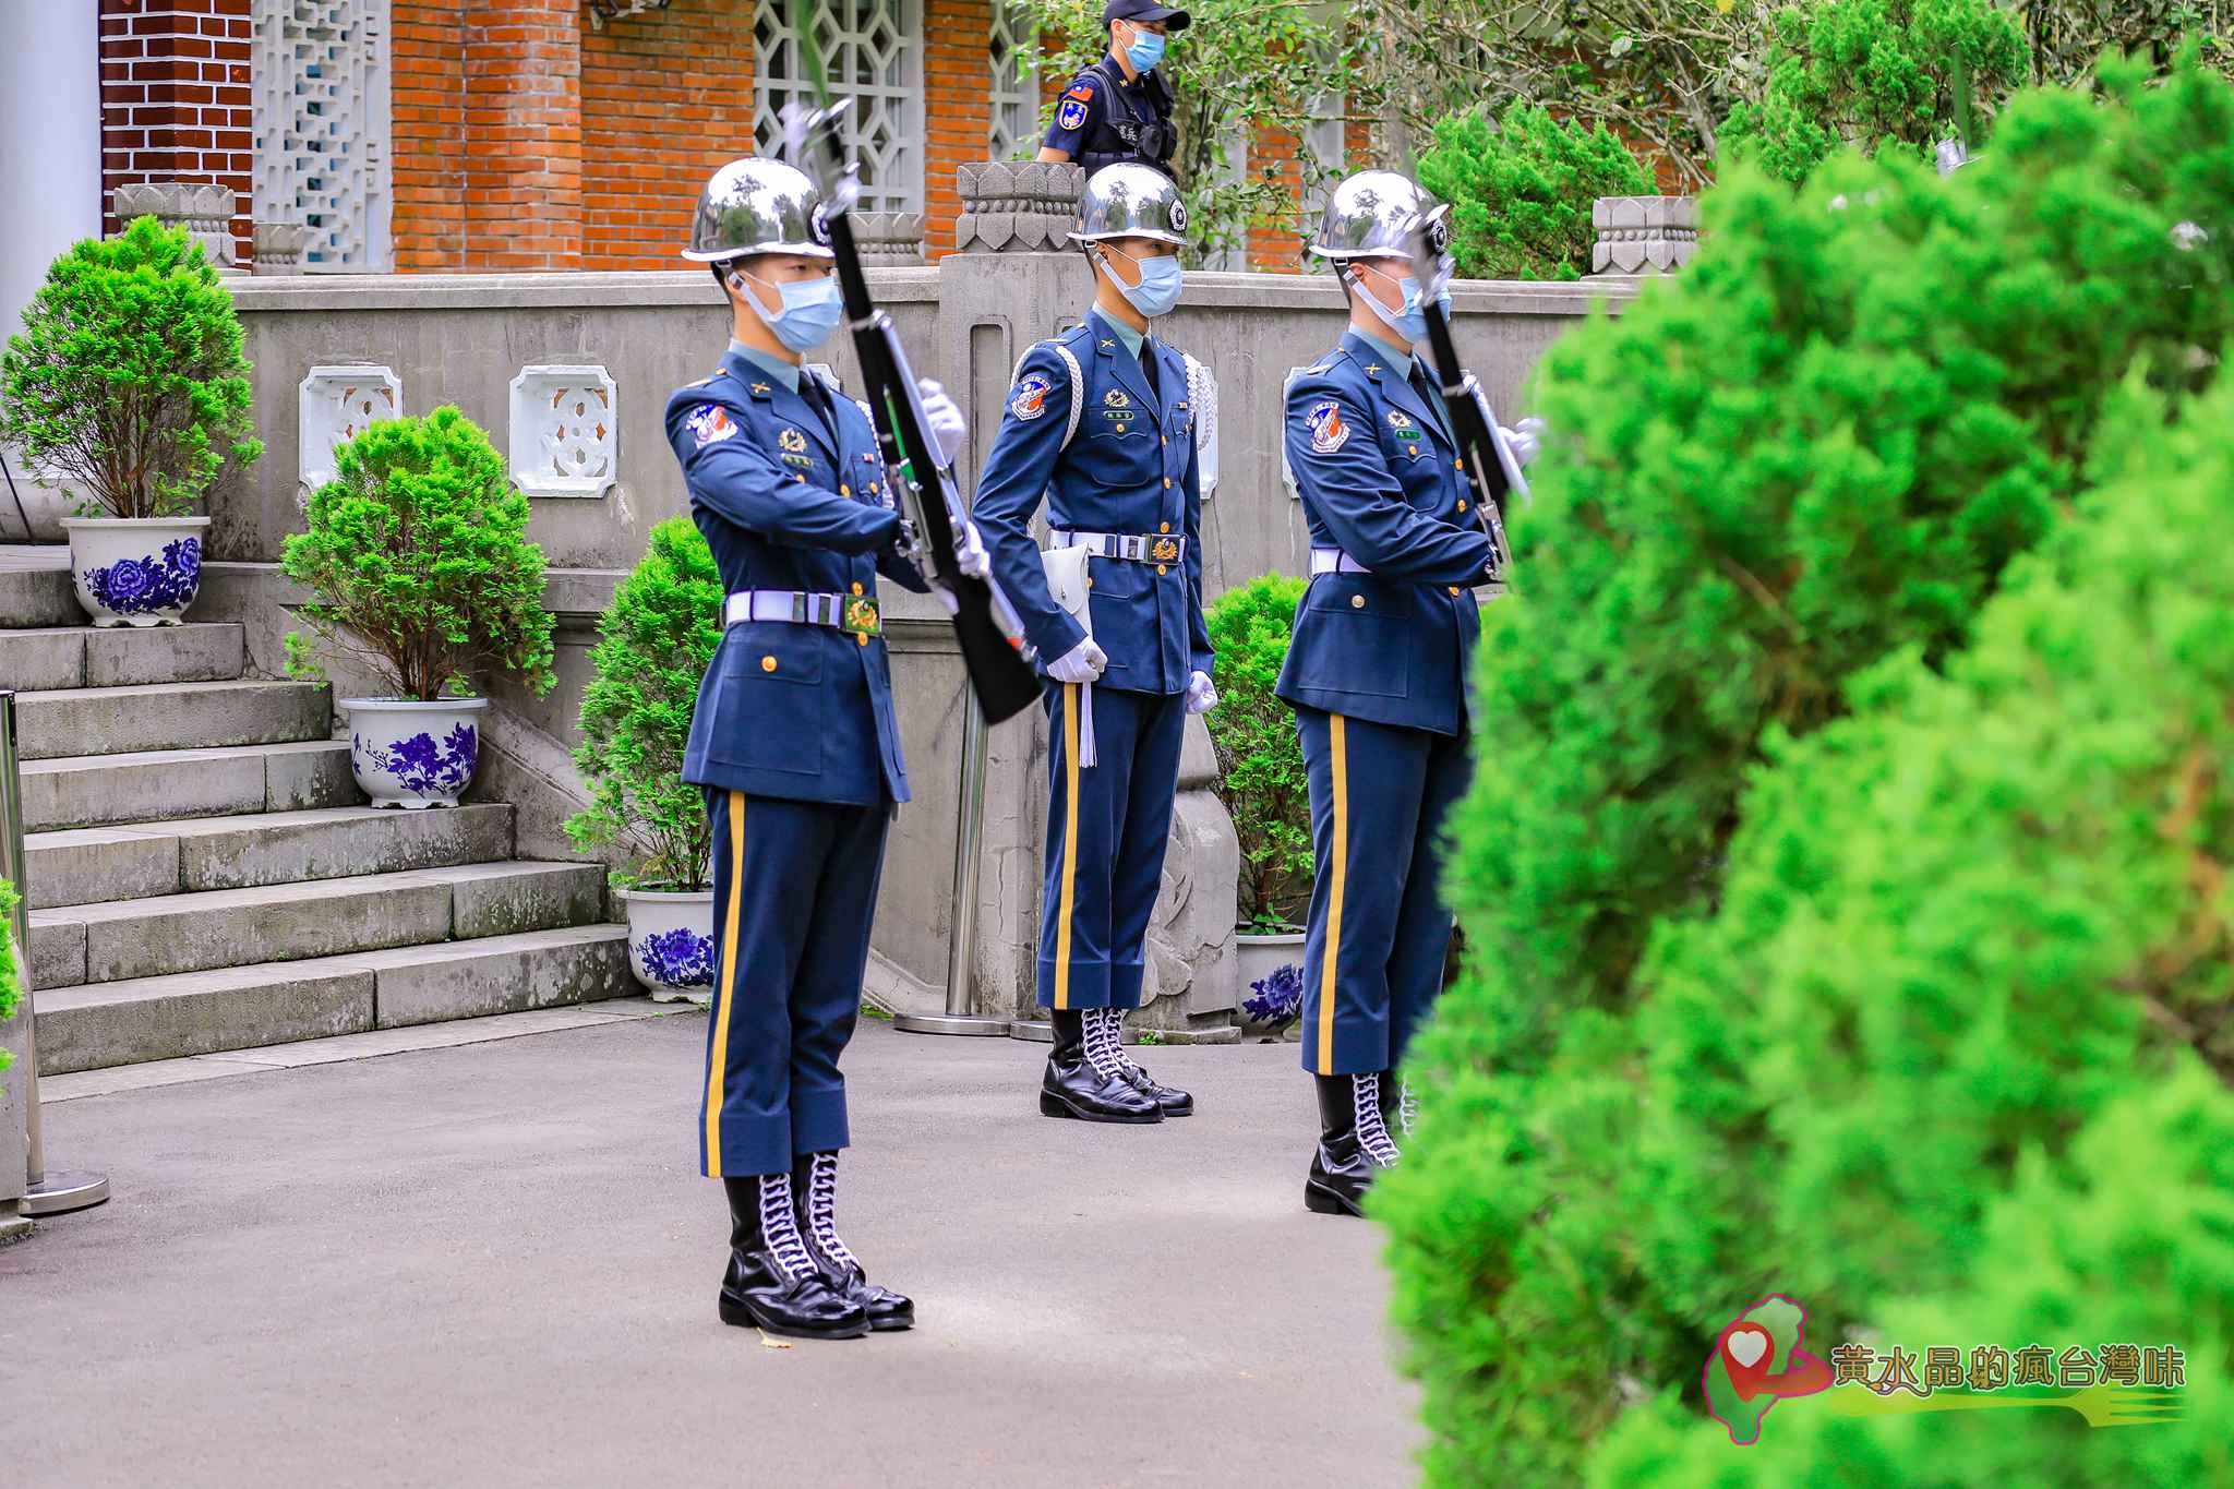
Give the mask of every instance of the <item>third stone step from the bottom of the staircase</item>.
M 25 837 L 31 909 L 302 884 L 512 857 L 512 808 L 335 806 Z

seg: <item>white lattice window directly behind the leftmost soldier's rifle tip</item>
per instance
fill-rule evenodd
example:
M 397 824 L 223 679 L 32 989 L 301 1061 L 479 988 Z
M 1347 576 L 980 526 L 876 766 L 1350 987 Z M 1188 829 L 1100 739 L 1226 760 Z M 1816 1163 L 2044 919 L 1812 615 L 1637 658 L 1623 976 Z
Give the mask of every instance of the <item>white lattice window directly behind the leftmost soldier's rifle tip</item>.
M 853 98 L 847 121 L 865 212 L 923 210 L 923 18 L 918 0 L 760 0 L 753 40 L 753 143 L 784 145 L 784 105 L 806 92 L 800 25 L 813 16 L 831 92 Z

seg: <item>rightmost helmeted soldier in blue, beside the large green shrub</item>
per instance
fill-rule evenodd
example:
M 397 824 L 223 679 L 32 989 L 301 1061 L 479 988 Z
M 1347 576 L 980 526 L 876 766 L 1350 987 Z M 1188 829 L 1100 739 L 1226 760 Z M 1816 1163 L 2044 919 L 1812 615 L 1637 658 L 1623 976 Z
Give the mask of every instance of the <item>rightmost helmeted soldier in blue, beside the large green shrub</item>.
M 1325 1214 L 1358 1214 L 1374 1172 L 1396 1163 L 1392 1072 L 1443 987 L 1439 835 L 1468 786 L 1474 585 L 1492 578 L 1481 498 L 1414 353 L 1428 326 L 1407 225 L 1430 205 L 1381 170 L 1334 190 L 1311 252 L 1334 263 L 1349 330 L 1287 391 L 1311 585 L 1278 694 L 1311 790 L 1302 1067 L 1320 1141 L 1302 1194 Z M 1530 422 L 1506 438 L 1533 451 Z

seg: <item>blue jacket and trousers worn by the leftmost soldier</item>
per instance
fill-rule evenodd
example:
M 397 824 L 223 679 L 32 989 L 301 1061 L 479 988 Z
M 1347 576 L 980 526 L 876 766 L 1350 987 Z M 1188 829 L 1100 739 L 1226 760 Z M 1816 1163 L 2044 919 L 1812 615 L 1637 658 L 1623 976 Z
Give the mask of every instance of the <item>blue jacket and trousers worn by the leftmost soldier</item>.
M 923 578 L 891 551 L 869 417 L 813 375 L 733 344 L 668 400 L 668 440 L 731 594 L 684 759 L 715 824 L 699 1159 L 708 1176 L 780 1174 L 847 1145 L 838 1056 L 907 801 L 876 576 Z

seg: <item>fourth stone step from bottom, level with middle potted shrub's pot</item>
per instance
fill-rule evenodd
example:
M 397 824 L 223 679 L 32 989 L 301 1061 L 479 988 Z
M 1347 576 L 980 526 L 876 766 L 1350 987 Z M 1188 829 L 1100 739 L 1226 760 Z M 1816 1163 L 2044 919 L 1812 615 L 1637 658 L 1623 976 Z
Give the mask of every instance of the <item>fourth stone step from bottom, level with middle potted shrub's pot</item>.
M 65 755 L 22 763 L 25 833 L 360 806 L 349 743 Z

